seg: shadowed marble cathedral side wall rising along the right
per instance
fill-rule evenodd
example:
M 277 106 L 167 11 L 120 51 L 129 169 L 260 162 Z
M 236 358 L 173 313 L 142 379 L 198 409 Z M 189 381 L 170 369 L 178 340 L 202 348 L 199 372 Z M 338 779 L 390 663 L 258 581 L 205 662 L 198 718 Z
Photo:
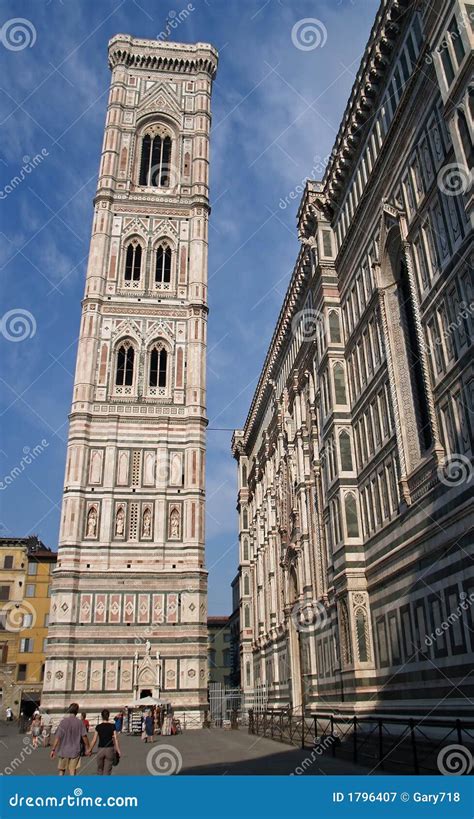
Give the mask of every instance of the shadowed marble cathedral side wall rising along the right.
M 248 702 L 470 707 L 472 45 L 463 2 L 383 2 L 306 185 L 232 443 Z

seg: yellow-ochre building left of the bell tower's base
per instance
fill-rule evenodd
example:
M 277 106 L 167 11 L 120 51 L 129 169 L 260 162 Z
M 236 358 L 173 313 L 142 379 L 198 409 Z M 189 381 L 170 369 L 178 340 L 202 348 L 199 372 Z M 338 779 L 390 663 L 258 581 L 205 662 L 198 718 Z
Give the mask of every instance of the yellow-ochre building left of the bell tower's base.
M 32 535 L 0 538 L 0 718 L 30 716 L 41 700 L 56 553 Z

